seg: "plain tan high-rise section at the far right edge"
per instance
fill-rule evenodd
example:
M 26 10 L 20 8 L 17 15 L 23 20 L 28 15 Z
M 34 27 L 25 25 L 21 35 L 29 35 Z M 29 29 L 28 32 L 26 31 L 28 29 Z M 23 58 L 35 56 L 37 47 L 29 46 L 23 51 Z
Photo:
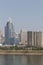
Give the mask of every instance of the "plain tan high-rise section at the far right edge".
M 43 32 L 36 32 L 36 46 L 43 47 Z

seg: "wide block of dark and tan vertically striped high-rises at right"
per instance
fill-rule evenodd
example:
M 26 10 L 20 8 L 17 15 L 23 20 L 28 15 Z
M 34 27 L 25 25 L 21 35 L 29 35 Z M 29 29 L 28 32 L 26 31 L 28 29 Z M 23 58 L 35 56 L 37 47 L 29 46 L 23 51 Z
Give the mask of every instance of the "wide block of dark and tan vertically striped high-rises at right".
M 43 32 L 28 31 L 27 42 L 29 46 L 43 47 Z

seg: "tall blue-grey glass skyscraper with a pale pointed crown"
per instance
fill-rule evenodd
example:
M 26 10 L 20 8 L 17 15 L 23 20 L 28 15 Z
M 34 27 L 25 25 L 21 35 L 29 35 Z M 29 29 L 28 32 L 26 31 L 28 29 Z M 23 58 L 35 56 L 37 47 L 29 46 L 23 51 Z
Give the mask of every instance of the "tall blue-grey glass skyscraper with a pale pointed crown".
M 11 18 L 7 21 L 7 24 L 5 26 L 5 44 L 14 44 L 14 28 Z

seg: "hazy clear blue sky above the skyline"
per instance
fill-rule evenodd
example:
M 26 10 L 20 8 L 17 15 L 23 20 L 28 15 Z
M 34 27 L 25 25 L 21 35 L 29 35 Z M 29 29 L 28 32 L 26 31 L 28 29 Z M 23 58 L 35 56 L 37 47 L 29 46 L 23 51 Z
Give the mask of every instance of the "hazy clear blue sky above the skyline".
M 15 32 L 43 31 L 43 0 L 0 0 L 0 30 L 11 17 Z

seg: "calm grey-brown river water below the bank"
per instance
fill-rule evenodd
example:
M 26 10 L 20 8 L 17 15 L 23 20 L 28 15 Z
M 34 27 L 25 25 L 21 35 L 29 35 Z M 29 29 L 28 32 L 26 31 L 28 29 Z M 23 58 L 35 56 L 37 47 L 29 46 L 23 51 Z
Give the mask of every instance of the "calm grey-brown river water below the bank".
M 0 65 L 43 65 L 43 56 L 0 55 Z

